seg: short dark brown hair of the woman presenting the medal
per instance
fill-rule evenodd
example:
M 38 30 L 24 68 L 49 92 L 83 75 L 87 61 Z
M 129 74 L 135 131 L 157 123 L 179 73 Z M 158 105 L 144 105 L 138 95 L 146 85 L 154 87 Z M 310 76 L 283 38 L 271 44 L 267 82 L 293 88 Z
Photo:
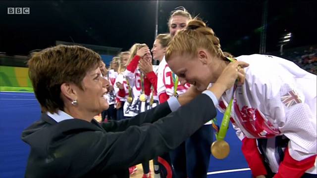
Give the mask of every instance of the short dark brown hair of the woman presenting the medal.
M 84 90 L 86 73 L 99 67 L 101 60 L 98 53 L 78 45 L 57 45 L 33 52 L 27 65 L 42 112 L 64 110 L 60 86 L 73 83 Z

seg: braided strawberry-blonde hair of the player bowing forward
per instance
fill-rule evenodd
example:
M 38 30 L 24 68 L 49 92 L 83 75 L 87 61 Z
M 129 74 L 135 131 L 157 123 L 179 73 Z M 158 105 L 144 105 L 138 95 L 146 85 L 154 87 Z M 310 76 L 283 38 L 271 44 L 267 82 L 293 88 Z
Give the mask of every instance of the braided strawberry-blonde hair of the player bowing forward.
M 220 41 L 213 30 L 207 27 L 202 20 L 195 18 L 188 22 L 186 29 L 180 30 L 173 37 L 166 49 L 165 59 L 168 61 L 174 52 L 193 55 L 200 47 L 208 49 L 214 56 L 224 58 Z

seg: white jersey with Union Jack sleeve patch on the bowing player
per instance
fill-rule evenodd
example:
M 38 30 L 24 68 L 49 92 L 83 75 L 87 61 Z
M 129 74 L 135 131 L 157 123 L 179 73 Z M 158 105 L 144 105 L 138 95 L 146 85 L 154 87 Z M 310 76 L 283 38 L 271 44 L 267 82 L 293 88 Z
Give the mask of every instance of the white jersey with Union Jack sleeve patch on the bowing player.
M 242 140 L 286 136 L 291 157 L 301 161 L 316 154 L 317 77 L 291 61 L 270 55 L 243 55 L 238 61 L 245 68 L 245 84 L 234 92 L 231 120 Z M 220 98 L 221 112 L 227 107 L 233 88 Z M 278 163 L 274 150 L 267 149 L 266 159 L 276 173 Z M 307 173 L 316 173 L 315 167 Z

